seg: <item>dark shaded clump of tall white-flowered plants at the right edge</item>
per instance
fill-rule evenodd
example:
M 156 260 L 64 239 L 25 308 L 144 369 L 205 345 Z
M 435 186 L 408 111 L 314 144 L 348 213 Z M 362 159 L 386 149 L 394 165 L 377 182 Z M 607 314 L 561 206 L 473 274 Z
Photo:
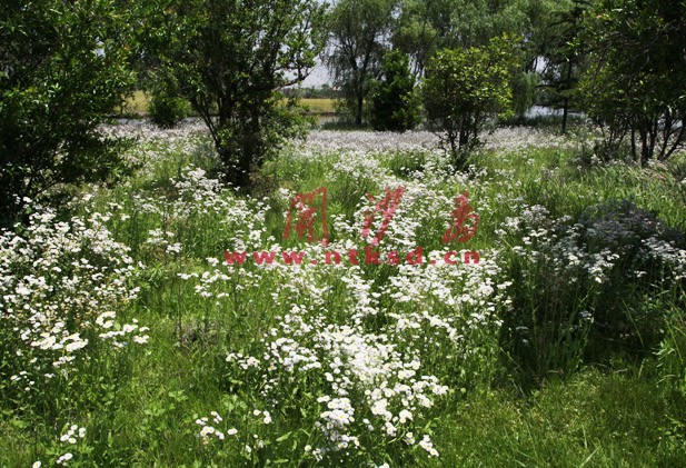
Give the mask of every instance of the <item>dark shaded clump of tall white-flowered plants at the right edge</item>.
M 664 311 L 684 307 L 683 233 L 630 200 L 589 207 L 576 220 L 550 219 L 543 207 L 528 212 L 515 228 L 508 221 L 516 237 L 505 240 L 515 246 L 509 276 L 517 286 L 501 343 L 520 370 L 539 381 L 584 359 L 653 349 Z

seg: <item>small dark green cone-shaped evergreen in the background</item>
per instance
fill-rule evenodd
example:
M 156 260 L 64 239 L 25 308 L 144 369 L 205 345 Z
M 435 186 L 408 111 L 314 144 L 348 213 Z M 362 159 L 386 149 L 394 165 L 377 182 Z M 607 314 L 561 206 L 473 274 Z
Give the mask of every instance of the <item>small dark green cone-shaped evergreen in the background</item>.
M 407 54 L 394 50 L 384 58 L 382 79 L 371 93 L 371 125 L 375 130 L 406 131 L 420 120 L 415 77 Z

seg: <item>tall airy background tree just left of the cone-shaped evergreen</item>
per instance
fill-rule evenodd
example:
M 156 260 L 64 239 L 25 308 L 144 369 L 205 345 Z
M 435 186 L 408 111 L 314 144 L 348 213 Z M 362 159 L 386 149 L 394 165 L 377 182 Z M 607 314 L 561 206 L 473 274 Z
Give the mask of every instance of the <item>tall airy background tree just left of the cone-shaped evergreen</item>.
M 394 6 L 394 0 L 340 0 L 328 16 L 331 52 L 326 63 L 358 126 L 371 81 L 380 72 Z

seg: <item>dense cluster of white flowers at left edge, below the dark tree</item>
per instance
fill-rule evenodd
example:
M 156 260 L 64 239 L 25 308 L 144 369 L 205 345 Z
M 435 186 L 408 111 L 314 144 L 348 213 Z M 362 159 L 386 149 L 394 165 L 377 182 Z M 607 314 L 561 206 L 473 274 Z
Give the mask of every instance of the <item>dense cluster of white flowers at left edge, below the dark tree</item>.
M 115 241 L 92 213 L 59 221 L 38 209 L 17 232 L 0 233 L 0 320 L 3 339 L 14 343 L 11 381 L 34 388 L 67 368 L 93 339 L 121 347 L 125 336 L 147 328 L 118 323 L 117 311 L 133 300 L 136 273 L 129 249 Z

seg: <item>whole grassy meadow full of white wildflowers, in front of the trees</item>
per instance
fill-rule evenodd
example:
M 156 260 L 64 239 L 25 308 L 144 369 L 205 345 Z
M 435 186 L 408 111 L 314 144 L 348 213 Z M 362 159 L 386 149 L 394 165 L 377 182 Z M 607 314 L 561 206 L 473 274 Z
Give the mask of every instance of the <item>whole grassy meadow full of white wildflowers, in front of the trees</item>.
M 0 237 L 0 466 L 686 466 L 683 159 L 513 128 L 455 172 L 431 133 L 315 131 L 246 195 L 199 127 L 111 131 L 131 177 Z M 284 239 L 321 187 L 328 246 Z M 225 261 L 364 252 L 398 187 L 378 249 L 435 265 Z

